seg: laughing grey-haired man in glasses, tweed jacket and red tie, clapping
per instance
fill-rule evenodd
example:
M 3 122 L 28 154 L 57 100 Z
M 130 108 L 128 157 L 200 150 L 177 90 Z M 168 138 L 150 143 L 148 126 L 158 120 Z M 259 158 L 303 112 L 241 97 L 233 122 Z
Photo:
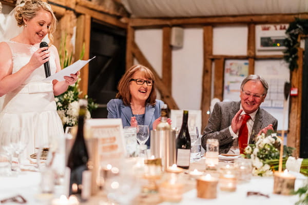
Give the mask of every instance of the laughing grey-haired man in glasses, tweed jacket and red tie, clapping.
M 277 119 L 260 108 L 268 90 L 268 84 L 259 75 L 247 76 L 241 84 L 241 101 L 216 103 L 202 136 L 206 140 L 219 141 L 219 153 L 243 153 L 247 144 L 254 144 L 255 137 L 267 130 L 277 130 Z

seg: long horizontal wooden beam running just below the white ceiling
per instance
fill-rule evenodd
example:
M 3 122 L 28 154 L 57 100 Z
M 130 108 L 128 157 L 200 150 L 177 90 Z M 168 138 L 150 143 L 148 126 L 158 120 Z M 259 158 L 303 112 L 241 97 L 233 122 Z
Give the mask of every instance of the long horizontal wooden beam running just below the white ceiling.
M 132 27 L 163 27 L 163 26 L 202 26 L 207 24 L 281 24 L 294 22 L 295 18 L 308 18 L 308 13 L 273 14 L 273 15 L 242 15 L 242 16 L 210 16 L 191 18 L 130 18 Z

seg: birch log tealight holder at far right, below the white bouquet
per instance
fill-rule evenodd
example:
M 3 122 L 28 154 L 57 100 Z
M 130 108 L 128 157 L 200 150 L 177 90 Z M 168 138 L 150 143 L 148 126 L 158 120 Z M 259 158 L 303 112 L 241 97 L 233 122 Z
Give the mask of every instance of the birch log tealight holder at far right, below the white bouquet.
M 274 173 L 274 194 L 291 195 L 294 191 L 296 177 L 288 173 L 287 170 L 284 172 Z

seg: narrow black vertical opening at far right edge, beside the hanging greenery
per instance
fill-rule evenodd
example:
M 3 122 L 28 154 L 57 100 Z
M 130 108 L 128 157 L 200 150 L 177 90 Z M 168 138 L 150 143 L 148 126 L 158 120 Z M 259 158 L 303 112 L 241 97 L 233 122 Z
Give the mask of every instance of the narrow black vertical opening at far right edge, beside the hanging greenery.
M 303 59 L 302 77 L 302 109 L 301 109 L 301 133 L 300 133 L 300 153 L 302 158 L 308 158 L 308 38 L 305 39 L 305 51 Z

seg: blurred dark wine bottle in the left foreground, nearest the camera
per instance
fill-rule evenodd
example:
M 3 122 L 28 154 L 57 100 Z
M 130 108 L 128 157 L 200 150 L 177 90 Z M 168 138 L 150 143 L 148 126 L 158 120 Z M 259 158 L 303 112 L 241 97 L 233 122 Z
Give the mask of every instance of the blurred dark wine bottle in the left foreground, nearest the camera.
M 84 121 L 87 112 L 87 100 L 79 100 L 79 117 L 78 131 L 74 144 L 68 156 L 67 166 L 71 170 L 69 194 L 81 194 L 82 192 L 82 175 L 88 170 L 87 163 L 89 160 L 88 150 L 84 138 Z

